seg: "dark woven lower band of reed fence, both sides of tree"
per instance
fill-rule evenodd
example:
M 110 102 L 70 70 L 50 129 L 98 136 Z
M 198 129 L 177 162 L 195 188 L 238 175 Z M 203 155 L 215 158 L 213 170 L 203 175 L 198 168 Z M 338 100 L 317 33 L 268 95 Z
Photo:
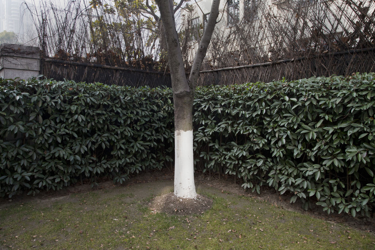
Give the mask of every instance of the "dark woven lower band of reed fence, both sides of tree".
M 166 86 L 171 87 L 167 72 L 126 69 L 89 63 L 47 58 L 41 63 L 41 73 L 56 80 L 72 79 L 83 82 L 102 82 L 108 85 Z M 354 72 L 375 71 L 375 48 L 357 49 L 292 58 L 268 63 L 203 70 L 199 73 L 198 86 L 232 85 L 244 82 L 270 82 L 285 77 L 288 80 L 311 76 L 351 75 Z

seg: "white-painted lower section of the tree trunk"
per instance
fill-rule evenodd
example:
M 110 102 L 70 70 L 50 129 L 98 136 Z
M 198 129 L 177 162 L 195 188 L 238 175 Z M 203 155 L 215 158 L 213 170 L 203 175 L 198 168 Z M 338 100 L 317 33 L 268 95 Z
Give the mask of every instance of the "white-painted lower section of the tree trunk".
M 193 130 L 174 133 L 174 194 L 182 198 L 196 198 L 193 162 Z

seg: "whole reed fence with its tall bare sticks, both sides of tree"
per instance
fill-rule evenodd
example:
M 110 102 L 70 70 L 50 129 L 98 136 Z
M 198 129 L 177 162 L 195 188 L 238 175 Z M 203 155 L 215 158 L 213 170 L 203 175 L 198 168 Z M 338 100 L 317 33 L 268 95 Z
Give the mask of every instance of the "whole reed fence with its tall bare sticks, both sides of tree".
M 109 0 L 93 1 L 90 6 L 83 0 L 67 2 L 60 9 L 43 1 L 34 15 L 45 58 L 43 75 L 133 87 L 171 86 L 163 27 L 153 10 L 150 19 L 144 19 L 133 1 L 112 7 L 104 3 L 112 3 Z M 220 9 L 221 21 L 198 86 L 375 71 L 375 0 L 305 4 L 288 0 L 272 5 L 269 0 L 256 0 L 240 5 L 250 2 L 252 16 L 232 16 L 228 7 Z M 191 25 L 192 19 L 202 17 L 201 9 L 191 9 L 184 18 L 176 18 L 183 22 L 180 39 L 186 72 L 204 30 L 203 24 Z M 227 25 L 229 15 L 237 22 Z

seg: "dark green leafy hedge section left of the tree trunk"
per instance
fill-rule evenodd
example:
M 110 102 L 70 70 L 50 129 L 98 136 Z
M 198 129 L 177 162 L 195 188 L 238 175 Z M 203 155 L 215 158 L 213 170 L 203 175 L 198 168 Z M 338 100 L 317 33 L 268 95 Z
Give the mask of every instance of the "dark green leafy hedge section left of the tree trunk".
M 0 80 L 1 196 L 61 189 L 171 161 L 170 90 Z

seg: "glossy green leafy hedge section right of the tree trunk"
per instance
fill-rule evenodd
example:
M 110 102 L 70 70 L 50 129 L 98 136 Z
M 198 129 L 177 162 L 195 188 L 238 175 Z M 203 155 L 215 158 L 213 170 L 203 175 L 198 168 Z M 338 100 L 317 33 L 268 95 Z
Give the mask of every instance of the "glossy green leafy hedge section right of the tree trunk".
M 198 167 L 237 175 L 253 192 L 289 191 L 305 209 L 313 199 L 328 213 L 369 215 L 374 103 L 374 73 L 198 88 Z

